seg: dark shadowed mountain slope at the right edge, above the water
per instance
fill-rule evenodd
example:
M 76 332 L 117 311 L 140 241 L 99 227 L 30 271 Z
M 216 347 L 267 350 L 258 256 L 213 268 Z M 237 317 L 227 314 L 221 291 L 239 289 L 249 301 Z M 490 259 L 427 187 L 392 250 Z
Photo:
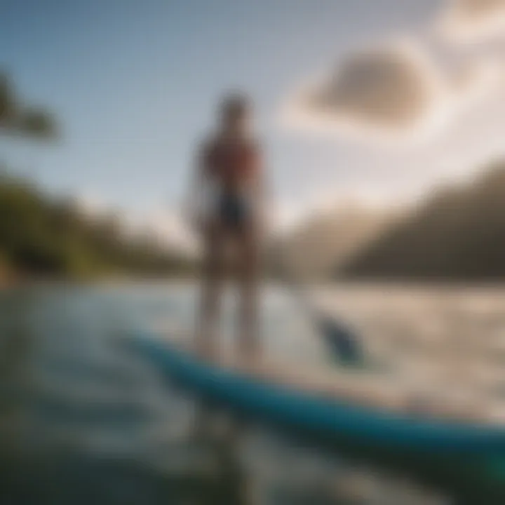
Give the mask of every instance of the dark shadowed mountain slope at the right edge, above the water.
M 344 265 L 349 278 L 505 279 L 505 161 L 440 189 Z

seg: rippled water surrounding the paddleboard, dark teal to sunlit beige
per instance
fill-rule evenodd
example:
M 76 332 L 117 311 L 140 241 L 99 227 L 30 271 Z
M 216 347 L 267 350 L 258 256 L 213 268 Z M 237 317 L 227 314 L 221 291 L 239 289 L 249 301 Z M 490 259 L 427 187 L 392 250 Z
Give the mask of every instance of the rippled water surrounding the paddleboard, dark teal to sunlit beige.
M 315 293 L 321 306 L 346 314 L 393 379 L 426 385 L 426 364 L 447 364 L 459 349 L 494 372 L 467 382 L 497 405 L 505 395 L 503 294 L 377 286 Z M 2 503 L 452 503 L 450 490 L 238 425 L 167 386 L 123 337 L 191 328 L 195 295 L 182 284 L 0 292 Z M 227 335 L 233 307 L 225 305 Z M 269 356 L 329 366 L 299 307 L 275 288 L 264 296 L 263 335 Z

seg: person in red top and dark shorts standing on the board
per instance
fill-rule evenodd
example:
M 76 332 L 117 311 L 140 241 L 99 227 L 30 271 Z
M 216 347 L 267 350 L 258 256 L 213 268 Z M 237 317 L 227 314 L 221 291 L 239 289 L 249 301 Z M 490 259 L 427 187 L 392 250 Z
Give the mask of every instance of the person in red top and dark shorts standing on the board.
M 260 354 L 258 281 L 264 215 L 262 156 L 253 138 L 252 116 L 245 95 L 224 97 L 215 131 L 198 147 L 193 194 L 194 217 L 203 243 L 198 351 L 205 356 L 217 352 L 222 285 L 231 271 L 239 288 L 237 346 L 240 357 L 247 361 Z

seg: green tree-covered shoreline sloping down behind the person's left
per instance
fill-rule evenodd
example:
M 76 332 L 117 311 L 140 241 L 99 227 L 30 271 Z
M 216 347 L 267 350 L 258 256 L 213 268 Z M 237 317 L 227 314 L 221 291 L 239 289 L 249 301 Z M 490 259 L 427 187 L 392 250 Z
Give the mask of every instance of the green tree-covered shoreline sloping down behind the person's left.
M 25 180 L 0 177 L 0 250 L 25 274 L 89 278 L 105 273 L 175 275 L 189 261 L 145 240 L 125 238 L 111 217 L 90 220 Z

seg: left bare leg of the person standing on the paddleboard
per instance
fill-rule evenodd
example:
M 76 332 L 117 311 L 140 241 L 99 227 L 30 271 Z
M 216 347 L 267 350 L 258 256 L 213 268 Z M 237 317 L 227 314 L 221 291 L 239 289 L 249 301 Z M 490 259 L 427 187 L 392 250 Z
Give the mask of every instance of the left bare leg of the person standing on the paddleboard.
M 206 357 L 215 356 L 220 296 L 224 276 L 224 233 L 219 224 L 209 227 L 203 259 L 201 307 L 198 314 L 196 346 Z

